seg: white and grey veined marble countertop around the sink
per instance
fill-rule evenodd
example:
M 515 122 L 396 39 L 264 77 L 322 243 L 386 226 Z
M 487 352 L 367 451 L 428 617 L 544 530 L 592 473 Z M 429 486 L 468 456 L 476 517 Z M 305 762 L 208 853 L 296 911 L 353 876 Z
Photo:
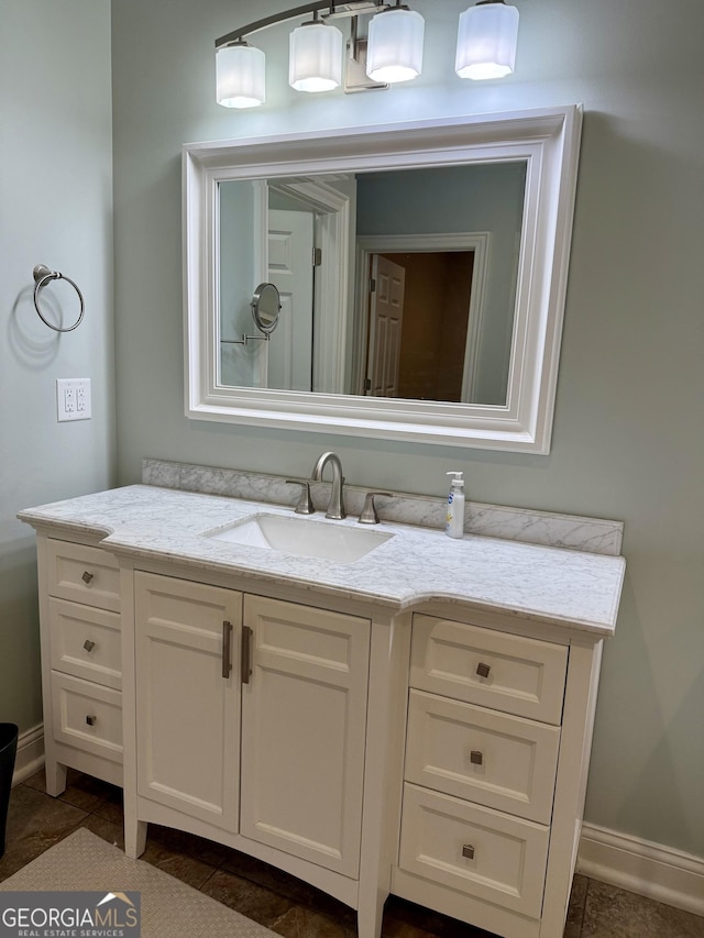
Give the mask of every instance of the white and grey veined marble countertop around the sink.
M 521 618 L 612 634 L 625 560 L 585 551 L 520 543 L 382 522 L 393 533 L 353 563 L 295 556 L 204 537 L 266 511 L 295 516 L 292 508 L 216 495 L 132 485 L 28 508 L 18 517 L 35 528 L 105 537 L 119 555 L 147 558 L 243 577 L 284 582 L 317 592 L 374 600 L 395 610 L 428 600 L 491 608 Z M 326 521 L 359 527 L 356 518 Z M 308 519 L 301 518 L 301 523 Z

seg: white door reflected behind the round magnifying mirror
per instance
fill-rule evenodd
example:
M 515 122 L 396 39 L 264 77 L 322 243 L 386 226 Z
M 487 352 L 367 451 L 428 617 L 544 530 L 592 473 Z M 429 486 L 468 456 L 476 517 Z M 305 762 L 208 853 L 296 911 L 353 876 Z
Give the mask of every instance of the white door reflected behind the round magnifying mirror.
M 268 349 L 267 387 L 312 390 L 314 216 L 268 212 L 268 279 L 282 314 Z

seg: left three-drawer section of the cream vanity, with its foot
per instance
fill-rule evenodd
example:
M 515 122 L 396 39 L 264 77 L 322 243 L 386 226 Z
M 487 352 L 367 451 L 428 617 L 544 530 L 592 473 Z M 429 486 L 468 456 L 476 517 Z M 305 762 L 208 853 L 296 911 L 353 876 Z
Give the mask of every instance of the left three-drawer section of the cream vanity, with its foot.
M 121 785 L 118 560 L 89 539 L 40 536 L 37 551 L 46 791 L 68 766 Z

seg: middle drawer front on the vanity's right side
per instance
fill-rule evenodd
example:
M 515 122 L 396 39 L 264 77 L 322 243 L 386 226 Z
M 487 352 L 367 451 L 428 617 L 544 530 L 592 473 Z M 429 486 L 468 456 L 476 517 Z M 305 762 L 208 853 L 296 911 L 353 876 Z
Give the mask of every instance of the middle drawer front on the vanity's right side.
M 411 691 L 406 780 L 550 824 L 560 730 Z

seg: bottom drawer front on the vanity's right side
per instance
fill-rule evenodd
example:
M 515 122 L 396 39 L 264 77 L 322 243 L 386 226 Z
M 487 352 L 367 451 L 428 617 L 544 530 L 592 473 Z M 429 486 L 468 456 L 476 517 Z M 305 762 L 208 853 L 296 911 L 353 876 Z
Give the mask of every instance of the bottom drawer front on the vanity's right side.
M 539 918 L 549 829 L 415 785 L 404 786 L 402 870 Z

